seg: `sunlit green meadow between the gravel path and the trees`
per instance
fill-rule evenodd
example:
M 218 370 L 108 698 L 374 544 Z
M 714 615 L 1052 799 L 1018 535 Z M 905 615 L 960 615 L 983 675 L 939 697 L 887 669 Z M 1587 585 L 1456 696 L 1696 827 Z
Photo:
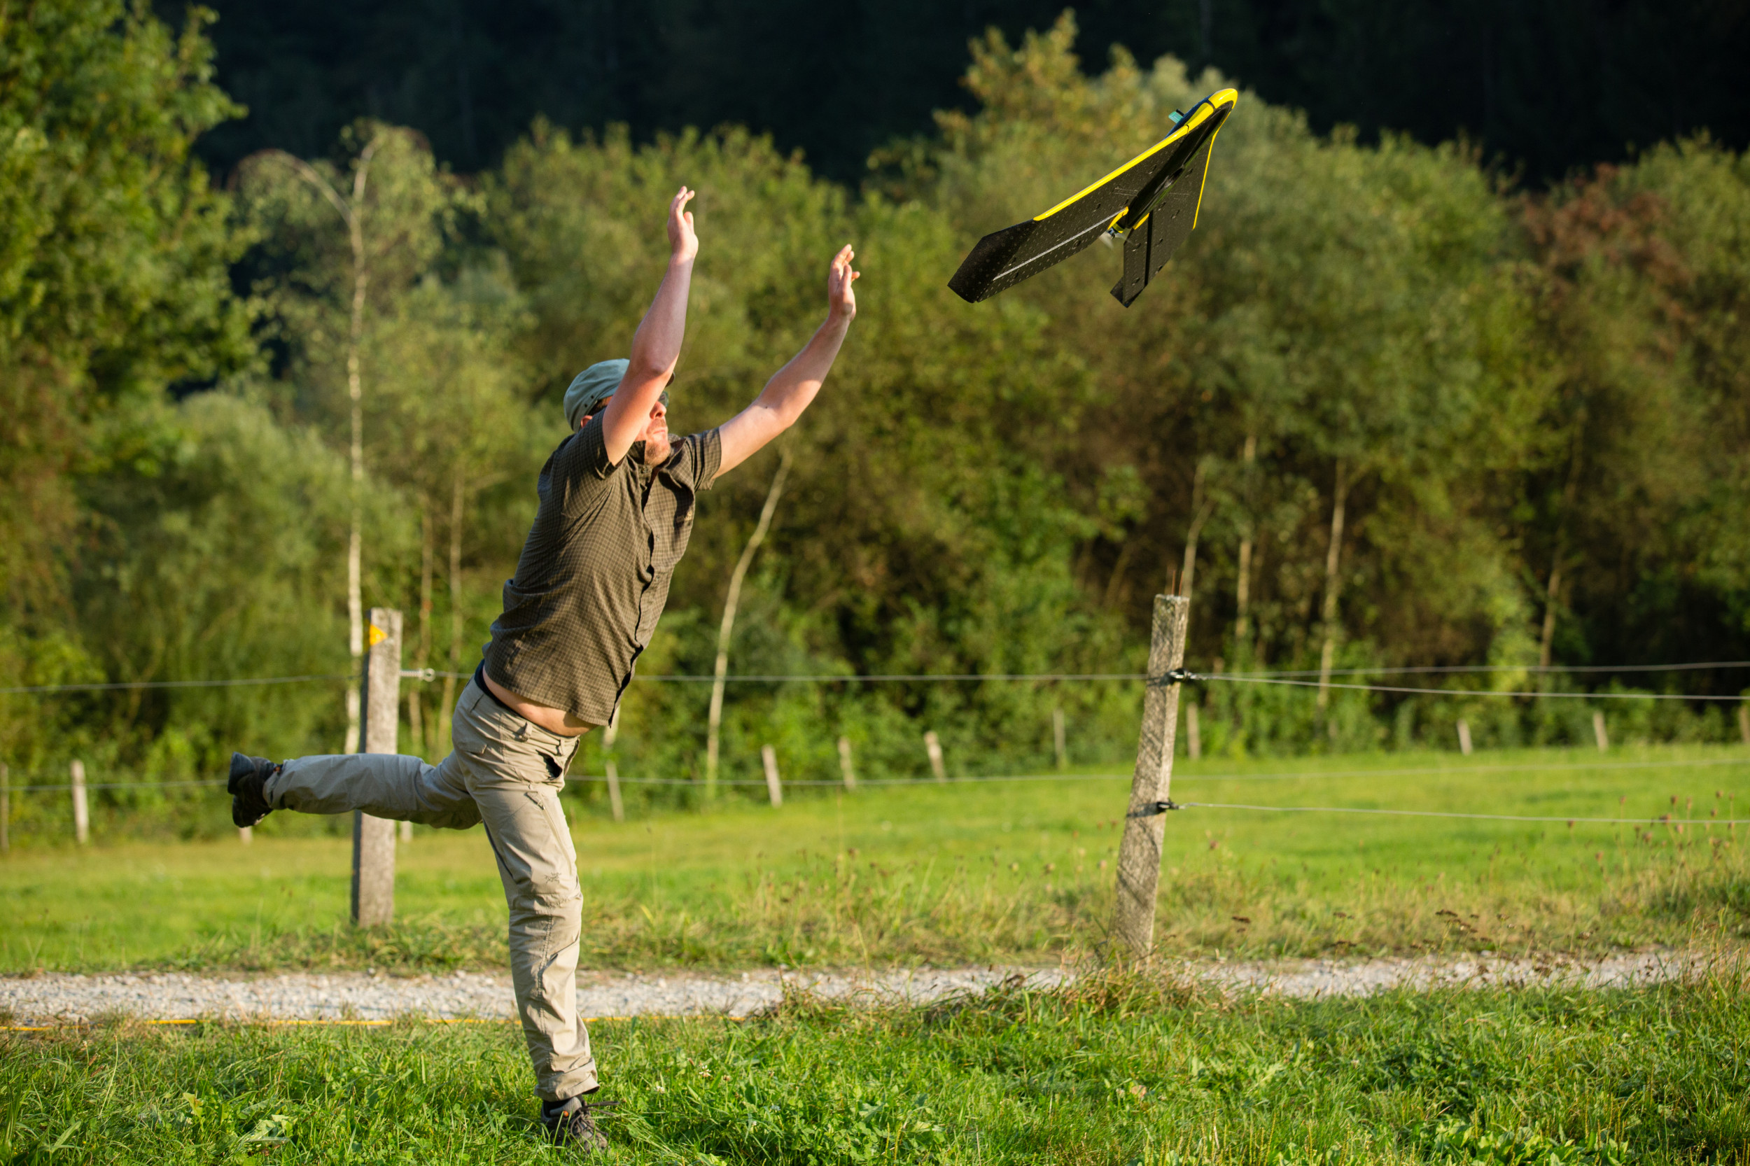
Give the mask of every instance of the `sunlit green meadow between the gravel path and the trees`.
M 1694 762 L 1710 765 L 1685 767 Z M 1745 797 L 1750 818 L 1750 751 L 1181 762 L 1172 793 L 1558 818 L 1727 818 Z M 595 797 L 569 798 L 584 963 L 1052 963 L 1102 938 L 1125 797 L 1125 781 L 922 783 L 625 825 Z M 0 970 L 502 968 L 504 902 L 481 832 L 420 830 L 397 860 L 399 923 L 354 931 L 350 842 L 276 837 L 278 821 L 248 849 L 234 839 L 14 849 L 0 860 Z M 1171 814 L 1166 828 L 1157 933 L 1169 952 L 1598 951 L 1682 944 L 1698 928 L 1750 937 L 1746 828 L 1213 809 Z

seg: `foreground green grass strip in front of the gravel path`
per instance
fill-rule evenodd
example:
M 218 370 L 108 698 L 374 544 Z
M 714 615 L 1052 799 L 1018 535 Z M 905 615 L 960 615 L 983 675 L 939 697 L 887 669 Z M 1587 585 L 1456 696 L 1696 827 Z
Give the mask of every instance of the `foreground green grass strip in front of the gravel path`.
M 1657 989 L 1325 1001 L 1096 973 L 597 1024 L 606 1161 L 1741 1164 L 1746 987 L 1729 959 Z M 534 1117 L 511 1024 L 0 1035 L 0 1162 L 567 1161 Z

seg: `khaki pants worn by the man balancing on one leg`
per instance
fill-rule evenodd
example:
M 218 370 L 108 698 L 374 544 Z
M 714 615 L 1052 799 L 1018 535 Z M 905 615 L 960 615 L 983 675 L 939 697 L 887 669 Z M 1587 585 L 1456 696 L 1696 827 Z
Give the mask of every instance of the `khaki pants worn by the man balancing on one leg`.
M 467 830 L 485 823 L 511 907 L 511 980 L 536 1091 L 544 1101 L 595 1089 L 590 1031 L 578 1015 L 583 891 L 558 791 L 578 737 L 516 716 L 469 681 L 441 765 L 390 753 L 303 756 L 266 786 L 268 805 Z

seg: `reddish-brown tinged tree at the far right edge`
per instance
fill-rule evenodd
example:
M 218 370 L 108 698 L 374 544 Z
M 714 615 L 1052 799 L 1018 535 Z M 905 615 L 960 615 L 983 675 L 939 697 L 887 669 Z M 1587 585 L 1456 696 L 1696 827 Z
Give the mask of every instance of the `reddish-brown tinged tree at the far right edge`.
M 1556 658 L 1722 658 L 1750 630 L 1750 166 L 1706 140 L 1522 205 L 1559 441 L 1526 571 Z M 1736 692 L 1729 676 L 1698 678 Z

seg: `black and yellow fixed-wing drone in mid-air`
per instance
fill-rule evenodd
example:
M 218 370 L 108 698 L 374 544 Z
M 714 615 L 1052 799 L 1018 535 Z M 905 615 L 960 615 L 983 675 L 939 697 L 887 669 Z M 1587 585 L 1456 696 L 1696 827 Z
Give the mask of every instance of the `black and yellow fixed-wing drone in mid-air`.
M 948 280 L 978 303 L 1074 256 L 1106 235 L 1124 235 L 1124 278 L 1111 294 L 1130 306 L 1197 226 L 1209 149 L 1239 93 L 1220 89 L 1171 114 L 1176 128 L 1087 189 L 1041 215 L 985 235 Z

